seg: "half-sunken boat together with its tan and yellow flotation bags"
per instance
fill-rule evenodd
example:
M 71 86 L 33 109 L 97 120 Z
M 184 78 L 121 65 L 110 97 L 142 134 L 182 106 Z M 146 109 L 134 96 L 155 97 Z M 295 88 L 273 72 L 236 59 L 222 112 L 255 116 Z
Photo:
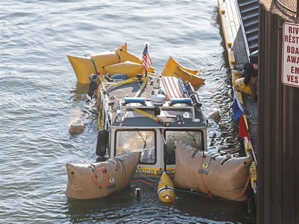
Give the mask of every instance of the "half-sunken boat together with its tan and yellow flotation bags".
M 114 171 L 113 164 L 117 162 L 112 162 L 112 173 L 106 175 L 104 172 L 99 175 L 97 172 L 105 169 L 104 163 L 67 164 L 67 196 L 78 199 L 107 196 L 128 186 L 135 173 L 143 176 L 163 174 L 158 185 L 158 195 L 163 202 L 175 200 L 174 186 L 166 174 L 175 174 L 175 186 L 181 188 L 200 192 L 203 192 L 204 188 L 203 193 L 208 195 L 246 200 L 242 186 L 248 177 L 252 159 L 244 157 L 229 161 L 229 158 L 204 154 L 207 151 L 208 120 L 193 88 L 193 83 L 204 83 L 204 79 L 196 76 L 198 71 L 185 68 L 169 57 L 162 71 L 163 76 L 151 72 L 143 74 L 141 60 L 127 52 L 127 45 L 107 55 L 114 59 L 115 55 L 118 55 L 119 63 L 109 65 L 108 62 L 98 60 L 103 55 L 92 55 L 84 59 L 68 57 L 78 81 L 89 82 L 88 75 L 92 73 L 92 68 L 86 72 L 85 63 L 88 63 L 89 67 L 93 64 L 94 73 L 98 74 L 96 59 L 103 69 L 101 74 L 109 71 L 109 75 L 99 76 L 101 84 L 97 93 L 99 133 L 96 154 L 112 159 L 108 161 L 119 161 L 120 157 L 133 154 L 135 159 L 132 161 L 135 166 L 132 166 L 131 161 L 130 168 L 123 166 L 121 173 L 115 173 L 121 165 L 116 165 Z M 127 58 L 122 59 L 122 55 Z M 109 57 L 105 60 L 108 59 Z M 78 60 L 84 63 L 80 64 Z M 181 145 L 177 139 L 182 142 Z M 184 150 L 184 147 L 191 148 L 191 154 L 190 150 Z M 182 154 L 184 151 L 188 152 Z M 200 160 L 197 152 L 202 153 Z M 136 155 L 139 155 L 138 159 Z M 128 163 L 129 157 L 126 158 Z M 211 162 L 212 160 L 216 162 Z M 124 165 L 124 161 L 122 164 Z M 203 170 L 208 166 L 210 171 Z M 198 170 L 202 182 L 198 179 Z M 209 172 L 210 175 L 203 178 L 202 175 L 208 175 Z M 105 182 L 106 177 L 106 184 L 98 184 L 95 176 L 102 182 Z M 119 181 L 118 187 L 113 184 L 115 176 Z M 186 177 L 190 183 L 185 181 Z M 227 177 L 230 177 L 231 183 L 224 186 Z M 234 178 L 238 181 L 234 181 Z M 220 179 L 222 182 L 218 183 Z M 249 177 L 247 182 L 248 180 Z M 235 193 L 239 195 L 233 198 Z

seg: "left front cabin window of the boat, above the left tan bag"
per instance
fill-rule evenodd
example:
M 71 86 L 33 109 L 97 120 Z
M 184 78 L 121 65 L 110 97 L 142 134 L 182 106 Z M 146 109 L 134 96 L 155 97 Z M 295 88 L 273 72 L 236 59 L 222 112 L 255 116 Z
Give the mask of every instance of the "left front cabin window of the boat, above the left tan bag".
M 116 155 L 141 151 L 140 164 L 155 164 L 155 131 L 117 130 L 115 148 Z

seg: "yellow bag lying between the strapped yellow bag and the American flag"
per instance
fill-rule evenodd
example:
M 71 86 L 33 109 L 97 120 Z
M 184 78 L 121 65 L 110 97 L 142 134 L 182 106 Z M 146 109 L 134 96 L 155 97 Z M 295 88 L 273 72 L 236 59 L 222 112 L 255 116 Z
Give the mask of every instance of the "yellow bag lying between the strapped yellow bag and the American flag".
M 131 61 L 105 66 L 104 68 L 109 73 L 109 76 L 123 73 L 126 74 L 129 79 L 136 77 L 137 74 L 145 73 L 145 68 L 143 65 Z

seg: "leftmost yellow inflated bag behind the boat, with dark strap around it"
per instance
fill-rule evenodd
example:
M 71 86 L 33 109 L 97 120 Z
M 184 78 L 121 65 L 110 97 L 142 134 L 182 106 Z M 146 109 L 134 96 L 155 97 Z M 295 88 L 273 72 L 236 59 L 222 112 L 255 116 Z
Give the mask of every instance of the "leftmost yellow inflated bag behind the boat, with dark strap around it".
M 77 57 L 71 55 L 67 55 L 67 57 L 74 69 L 77 81 L 84 84 L 90 83 L 89 75 L 96 73 L 95 66 L 97 68 L 97 72 L 100 72 L 102 75 L 106 75 L 107 72 L 103 69 L 103 67 L 120 63 L 120 56 L 115 51 L 93 54 L 88 57 Z M 95 66 L 91 58 L 93 59 Z

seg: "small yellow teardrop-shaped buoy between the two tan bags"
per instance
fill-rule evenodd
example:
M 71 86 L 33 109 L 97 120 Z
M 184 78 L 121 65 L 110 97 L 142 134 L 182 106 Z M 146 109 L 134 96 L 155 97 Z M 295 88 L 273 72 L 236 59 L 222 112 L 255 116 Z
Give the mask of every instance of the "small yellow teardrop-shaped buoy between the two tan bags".
M 160 178 L 157 192 L 162 202 L 173 202 L 175 200 L 174 186 L 165 172 Z

